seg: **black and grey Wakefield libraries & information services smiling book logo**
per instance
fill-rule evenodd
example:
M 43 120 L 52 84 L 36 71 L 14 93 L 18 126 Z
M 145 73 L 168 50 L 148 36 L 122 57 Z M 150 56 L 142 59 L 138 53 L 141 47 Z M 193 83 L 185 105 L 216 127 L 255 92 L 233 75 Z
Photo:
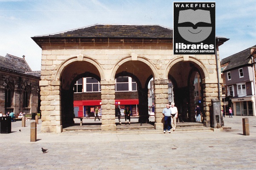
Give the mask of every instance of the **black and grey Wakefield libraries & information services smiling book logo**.
M 215 52 L 215 3 L 173 2 L 173 54 Z

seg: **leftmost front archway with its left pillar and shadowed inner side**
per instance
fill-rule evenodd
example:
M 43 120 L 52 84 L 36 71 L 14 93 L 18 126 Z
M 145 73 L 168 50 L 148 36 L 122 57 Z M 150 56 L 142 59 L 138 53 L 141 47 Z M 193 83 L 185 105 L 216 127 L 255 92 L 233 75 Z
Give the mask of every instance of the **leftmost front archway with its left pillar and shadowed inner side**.
M 48 71 L 54 76 L 48 76 L 46 79 L 52 80 L 40 81 L 42 132 L 59 133 L 62 131 L 62 125 L 74 123 L 72 83 L 74 79 L 86 73 L 101 77 L 103 71 L 100 70 L 101 66 L 95 60 L 76 56 L 63 62 L 56 71 Z

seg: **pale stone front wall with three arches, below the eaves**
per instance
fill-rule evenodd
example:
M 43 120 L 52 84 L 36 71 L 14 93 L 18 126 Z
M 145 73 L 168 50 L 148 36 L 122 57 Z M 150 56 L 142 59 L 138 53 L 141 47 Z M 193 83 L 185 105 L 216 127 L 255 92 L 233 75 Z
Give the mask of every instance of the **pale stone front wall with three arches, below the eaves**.
M 215 55 L 178 56 L 173 55 L 171 43 L 133 43 L 133 44 L 56 44 L 52 46 L 42 45 L 41 66 L 41 111 L 43 132 L 56 132 L 56 125 L 61 125 L 61 88 L 69 88 L 69 82 L 79 74 L 83 74 L 86 68 L 79 66 L 84 62 L 89 71 L 93 71 L 101 77 L 102 99 L 102 130 L 115 130 L 115 74 L 121 71 L 129 72 L 129 67 L 141 68 L 133 72 L 141 84 L 146 83 L 147 77 L 153 75 L 155 80 L 155 128 L 161 129 L 163 123 L 162 109 L 168 102 L 167 79 L 168 74 L 175 74 L 178 79 L 178 71 L 170 71 L 175 64 L 189 62 L 195 65 L 201 72 L 204 88 L 204 112 L 206 120 L 209 119 L 210 98 L 218 96 Z M 70 66 L 76 62 L 77 67 Z M 129 63 L 129 64 L 128 64 Z M 71 68 L 72 69 L 71 69 Z M 65 72 L 65 69 L 69 69 Z M 179 67 L 177 67 L 179 69 Z M 131 70 L 130 70 L 131 71 Z M 63 74 L 65 72 L 65 75 Z M 188 73 L 179 70 L 181 75 Z M 65 85 L 63 84 L 65 79 Z M 186 87 L 187 82 L 179 82 L 180 87 Z M 145 88 L 145 87 L 142 87 Z

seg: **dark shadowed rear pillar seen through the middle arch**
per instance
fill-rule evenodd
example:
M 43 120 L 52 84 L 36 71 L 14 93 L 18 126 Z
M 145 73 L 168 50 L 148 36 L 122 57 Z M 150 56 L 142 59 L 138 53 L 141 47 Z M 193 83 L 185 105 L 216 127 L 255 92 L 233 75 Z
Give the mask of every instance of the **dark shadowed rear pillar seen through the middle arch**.
M 147 88 L 140 88 L 138 89 L 138 97 L 139 97 L 139 116 L 140 116 L 140 123 L 146 123 L 148 116 L 148 89 Z

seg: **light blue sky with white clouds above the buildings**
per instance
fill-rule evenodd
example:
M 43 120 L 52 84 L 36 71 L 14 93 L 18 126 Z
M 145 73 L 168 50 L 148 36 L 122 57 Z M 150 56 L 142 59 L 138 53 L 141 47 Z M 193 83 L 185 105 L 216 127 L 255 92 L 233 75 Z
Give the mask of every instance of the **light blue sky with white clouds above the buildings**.
M 256 45 L 256 0 L 216 2 L 216 36 L 221 59 Z M 96 23 L 157 24 L 173 28 L 172 0 L 0 0 L 0 55 L 25 59 L 40 70 L 41 48 L 31 39 Z

